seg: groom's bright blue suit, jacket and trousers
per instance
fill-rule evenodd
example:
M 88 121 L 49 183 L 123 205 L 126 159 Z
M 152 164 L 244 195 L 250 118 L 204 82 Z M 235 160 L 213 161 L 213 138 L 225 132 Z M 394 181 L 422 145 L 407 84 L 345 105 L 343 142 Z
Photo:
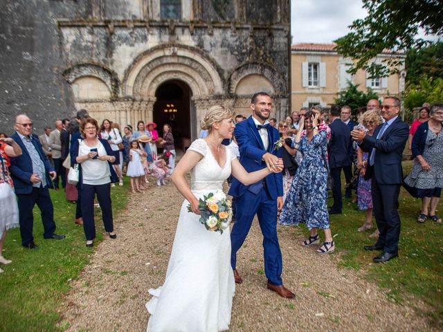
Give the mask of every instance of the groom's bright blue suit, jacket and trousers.
M 250 116 L 235 126 L 235 138 L 240 152 L 240 163 L 247 172 L 255 172 L 266 167 L 262 156 L 269 152 L 280 156 L 273 150 L 273 143 L 279 140 L 278 130 L 269 126 L 269 148 L 264 149 L 262 138 Z M 231 259 L 233 269 L 237 264 L 237 251 L 248 235 L 255 214 L 263 234 L 264 271 L 270 284 L 282 284 L 282 253 L 277 237 L 277 197 L 283 196 L 282 174 L 269 174 L 262 181 L 243 185 L 236 178 L 230 186 L 229 194 L 235 197 L 237 210 L 233 230 L 230 234 Z

